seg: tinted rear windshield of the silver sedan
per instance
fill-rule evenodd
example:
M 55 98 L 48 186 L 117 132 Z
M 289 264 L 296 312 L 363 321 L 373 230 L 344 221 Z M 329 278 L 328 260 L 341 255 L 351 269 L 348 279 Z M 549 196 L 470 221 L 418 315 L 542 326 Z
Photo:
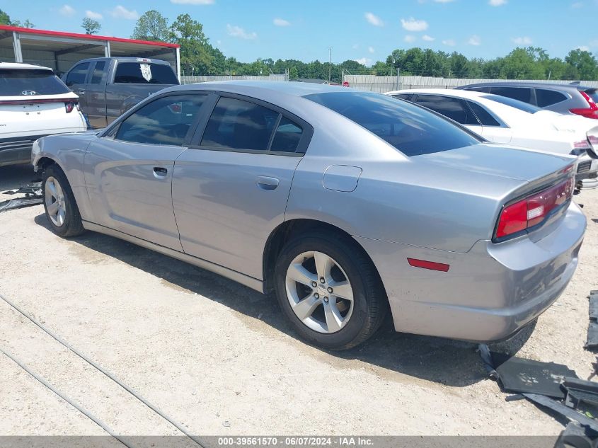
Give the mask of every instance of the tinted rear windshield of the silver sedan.
M 468 147 L 481 142 L 464 128 L 407 101 L 369 92 L 305 96 L 365 127 L 406 156 Z

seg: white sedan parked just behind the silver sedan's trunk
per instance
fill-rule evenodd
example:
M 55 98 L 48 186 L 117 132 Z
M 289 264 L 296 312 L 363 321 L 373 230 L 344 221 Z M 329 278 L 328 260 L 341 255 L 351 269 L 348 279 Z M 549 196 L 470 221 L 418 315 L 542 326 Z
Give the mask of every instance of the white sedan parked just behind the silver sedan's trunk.
M 596 120 L 561 115 L 505 96 L 475 91 L 425 88 L 386 95 L 434 110 L 490 142 L 578 156 L 577 179 L 583 180 L 586 188 L 598 185 L 598 161 L 587 155 L 587 132 L 596 126 Z

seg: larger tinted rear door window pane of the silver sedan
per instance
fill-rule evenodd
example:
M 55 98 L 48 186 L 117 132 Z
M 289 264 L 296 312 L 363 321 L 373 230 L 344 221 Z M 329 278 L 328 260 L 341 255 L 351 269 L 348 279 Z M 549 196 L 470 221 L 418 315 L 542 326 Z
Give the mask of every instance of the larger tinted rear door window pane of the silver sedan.
M 201 146 L 267 151 L 279 115 L 255 103 L 222 97 L 209 117 Z

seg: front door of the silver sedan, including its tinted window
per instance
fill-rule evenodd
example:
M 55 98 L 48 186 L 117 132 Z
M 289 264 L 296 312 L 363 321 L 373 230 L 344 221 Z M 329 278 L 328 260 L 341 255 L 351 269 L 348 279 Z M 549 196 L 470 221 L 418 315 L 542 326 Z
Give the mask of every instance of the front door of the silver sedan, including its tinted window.
M 172 207 L 174 161 L 207 96 L 171 93 L 134 110 L 85 156 L 96 224 L 182 251 Z

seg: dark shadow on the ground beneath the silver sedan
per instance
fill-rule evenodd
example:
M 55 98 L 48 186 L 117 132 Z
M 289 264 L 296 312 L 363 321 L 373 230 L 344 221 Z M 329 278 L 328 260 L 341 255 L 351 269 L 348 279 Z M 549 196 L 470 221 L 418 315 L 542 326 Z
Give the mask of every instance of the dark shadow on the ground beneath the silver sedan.
M 35 223 L 50 231 L 45 214 L 35 217 Z M 111 236 L 88 231 L 72 241 L 155 275 L 166 285 L 187 289 L 259 319 L 277 331 L 291 335 L 297 339 L 297 343 L 302 343 L 284 320 L 275 297 L 265 296 L 207 270 Z M 516 338 L 493 347 L 493 350 L 514 354 L 522 348 L 531 331 L 533 326 L 519 333 Z M 449 386 L 468 386 L 486 378 L 475 344 L 396 333 L 390 317 L 380 331 L 360 347 L 327 353 Z

